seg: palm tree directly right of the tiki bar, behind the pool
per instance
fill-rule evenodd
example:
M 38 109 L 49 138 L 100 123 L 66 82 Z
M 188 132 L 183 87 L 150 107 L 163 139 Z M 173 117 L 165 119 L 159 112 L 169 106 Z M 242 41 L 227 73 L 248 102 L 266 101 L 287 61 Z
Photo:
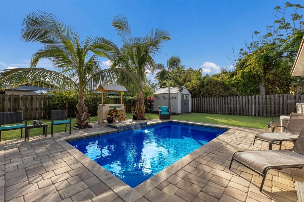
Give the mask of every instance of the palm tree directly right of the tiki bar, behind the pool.
M 119 48 L 111 40 L 102 37 L 96 38 L 95 47 L 112 61 L 111 68 L 130 70 L 140 77 L 142 83 L 145 83 L 146 74 L 153 74 L 156 70 L 154 56 L 161 52 L 165 41 L 171 40 L 169 32 L 152 29 L 144 37 L 132 37 L 130 24 L 124 15 L 116 15 L 112 26 L 122 38 L 122 47 Z M 145 109 L 142 89 L 140 93 L 136 93 L 136 109 Z M 138 114 L 138 118 L 144 119 L 144 114 Z

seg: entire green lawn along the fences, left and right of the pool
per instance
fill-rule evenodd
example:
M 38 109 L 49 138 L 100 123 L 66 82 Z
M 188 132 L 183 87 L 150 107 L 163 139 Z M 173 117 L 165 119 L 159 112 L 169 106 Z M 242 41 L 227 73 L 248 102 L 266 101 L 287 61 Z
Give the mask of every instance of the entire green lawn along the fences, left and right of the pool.
M 132 113 L 126 113 L 127 119 L 132 119 Z M 146 113 L 145 117 L 147 119 L 157 119 L 158 114 Z M 258 128 L 258 129 L 267 129 L 269 121 L 272 117 L 260 117 L 260 116 L 237 116 L 237 115 L 223 115 L 223 114 L 205 114 L 205 113 L 191 113 L 183 114 L 178 116 L 171 116 L 172 119 L 176 120 L 185 120 L 185 121 L 196 121 L 203 123 L 214 123 L 222 124 L 228 126 L 240 126 L 247 128 Z M 279 117 L 275 117 L 275 120 L 280 120 Z M 96 116 L 91 117 L 91 123 L 96 121 Z M 42 120 L 43 123 L 50 123 L 50 120 Z M 76 119 L 72 119 L 72 125 L 76 123 Z M 28 121 L 28 125 L 32 124 L 31 121 Z M 65 125 L 58 125 L 54 127 L 54 133 L 63 132 Z M 72 129 L 73 130 L 73 129 Z M 51 132 L 51 126 L 48 125 L 48 133 Z M 23 130 L 22 137 L 24 138 L 25 131 Z M 31 129 L 30 136 L 42 135 L 42 128 Z M 20 138 L 20 130 L 10 130 L 2 131 L 2 140 L 12 140 Z

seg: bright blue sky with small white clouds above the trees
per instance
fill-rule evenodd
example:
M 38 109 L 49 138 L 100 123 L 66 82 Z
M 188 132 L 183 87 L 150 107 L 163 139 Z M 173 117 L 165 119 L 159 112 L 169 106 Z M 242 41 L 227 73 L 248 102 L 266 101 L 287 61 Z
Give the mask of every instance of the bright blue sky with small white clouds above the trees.
M 287 1 L 287 0 L 286 0 Z M 299 3 L 301 1 L 289 1 Z M 36 10 L 56 15 L 70 24 L 82 39 L 87 35 L 103 36 L 120 44 L 111 27 L 117 14 L 126 15 L 133 36 L 143 36 L 152 28 L 171 33 L 156 62 L 168 57 L 181 57 L 186 68 L 204 68 L 204 74 L 217 73 L 230 67 L 232 49 L 238 53 L 253 31 L 266 32 L 275 17 L 271 14 L 285 1 L 1 1 L 0 2 L 0 69 L 28 67 L 39 43 L 20 40 L 22 19 Z M 302 3 L 303 4 L 303 3 Z M 304 13 L 302 13 L 304 15 Z M 106 67 L 109 62 L 100 59 Z M 37 67 L 53 69 L 43 59 Z M 153 80 L 155 75 L 149 75 Z

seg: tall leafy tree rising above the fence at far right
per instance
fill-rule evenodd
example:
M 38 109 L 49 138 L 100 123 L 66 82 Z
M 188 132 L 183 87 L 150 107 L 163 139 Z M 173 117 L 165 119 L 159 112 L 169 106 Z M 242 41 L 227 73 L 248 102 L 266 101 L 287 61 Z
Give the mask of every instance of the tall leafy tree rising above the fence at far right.
M 293 9 L 292 23 L 286 19 L 287 9 Z M 285 3 L 275 7 L 274 26 L 268 26 L 268 32 L 261 35 L 255 31 L 257 40 L 240 49 L 240 58 L 236 62 L 235 82 L 242 86 L 258 86 L 259 94 L 286 93 L 292 81 L 290 70 L 303 37 L 302 15 L 299 4 Z M 250 82 L 248 82 L 248 80 Z M 254 82 L 257 81 L 258 83 Z M 282 83 L 283 81 L 283 83 Z M 245 84 L 245 85 L 243 85 Z M 252 94 L 257 94 L 251 91 Z

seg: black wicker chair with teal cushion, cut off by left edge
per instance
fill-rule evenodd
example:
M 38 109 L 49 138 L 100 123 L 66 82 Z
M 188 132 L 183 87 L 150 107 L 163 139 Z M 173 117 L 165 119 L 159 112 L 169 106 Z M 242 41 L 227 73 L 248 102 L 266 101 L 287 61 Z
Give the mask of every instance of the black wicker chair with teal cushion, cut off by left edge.
M 23 124 L 23 121 L 25 124 Z M 19 124 L 17 124 L 19 123 Z M 6 124 L 17 124 L 11 126 L 2 126 Z M 18 130 L 21 129 L 20 138 L 22 138 L 22 129 L 25 128 L 25 136 L 27 136 L 27 120 L 22 119 L 22 112 L 2 112 L 0 113 L 0 141 L 1 132 L 5 130 Z

